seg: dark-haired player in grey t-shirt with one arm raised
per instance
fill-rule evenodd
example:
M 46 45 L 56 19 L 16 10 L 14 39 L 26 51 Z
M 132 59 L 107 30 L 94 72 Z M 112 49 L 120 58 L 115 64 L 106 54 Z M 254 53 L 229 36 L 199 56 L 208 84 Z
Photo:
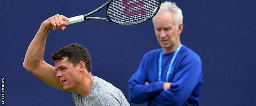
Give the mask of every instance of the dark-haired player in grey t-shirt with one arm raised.
M 57 14 L 41 23 L 27 49 L 24 68 L 46 84 L 70 93 L 76 106 L 129 106 L 118 88 L 91 74 L 91 57 L 84 46 L 73 43 L 53 53 L 55 67 L 43 60 L 50 29 L 65 30 L 68 22 Z

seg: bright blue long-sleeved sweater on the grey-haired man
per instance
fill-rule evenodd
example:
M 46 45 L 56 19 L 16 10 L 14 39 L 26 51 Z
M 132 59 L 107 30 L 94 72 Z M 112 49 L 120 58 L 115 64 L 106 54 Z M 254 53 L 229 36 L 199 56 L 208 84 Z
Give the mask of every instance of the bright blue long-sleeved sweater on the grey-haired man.
M 162 49 L 149 51 L 143 56 L 139 68 L 129 80 L 129 97 L 133 103 L 148 102 L 150 106 L 199 105 L 203 73 L 200 57 L 186 46 L 176 55 L 168 82 L 171 87 L 164 91 L 163 83 L 174 53 L 162 55 L 162 81 L 158 81 L 158 64 Z M 145 85 L 145 82 L 149 85 Z

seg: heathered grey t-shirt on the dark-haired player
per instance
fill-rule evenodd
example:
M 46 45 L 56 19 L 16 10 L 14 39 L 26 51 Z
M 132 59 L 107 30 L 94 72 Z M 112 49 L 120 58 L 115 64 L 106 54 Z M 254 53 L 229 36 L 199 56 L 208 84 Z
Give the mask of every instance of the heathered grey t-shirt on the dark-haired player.
M 81 97 L 73 90 L 68 93 L 76 106 L 130 106 L 119 88 L 97 76 L 93 76 L 91 92 L 87 97 Z

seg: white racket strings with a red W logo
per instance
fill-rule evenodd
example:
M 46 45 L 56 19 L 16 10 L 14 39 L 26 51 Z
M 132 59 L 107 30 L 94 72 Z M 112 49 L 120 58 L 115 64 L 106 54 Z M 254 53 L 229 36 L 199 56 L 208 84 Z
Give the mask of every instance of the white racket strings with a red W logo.
M 119 24 L 136 24 L 151 18 L 159 0 L 113 0 L 108 7 L 109 18 Z

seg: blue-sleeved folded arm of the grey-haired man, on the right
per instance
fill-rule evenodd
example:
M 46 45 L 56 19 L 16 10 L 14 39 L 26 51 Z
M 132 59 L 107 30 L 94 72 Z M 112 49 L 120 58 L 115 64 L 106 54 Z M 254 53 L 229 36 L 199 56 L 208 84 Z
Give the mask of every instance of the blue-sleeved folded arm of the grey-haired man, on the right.
M 162 91 L 151 101 L 163 105 L 181 106 L 190 97 L 195 86 L 199 83 L 202 72 L 201 60 L 186 60 L 178 68 L 171 87 L 167 91 Z

